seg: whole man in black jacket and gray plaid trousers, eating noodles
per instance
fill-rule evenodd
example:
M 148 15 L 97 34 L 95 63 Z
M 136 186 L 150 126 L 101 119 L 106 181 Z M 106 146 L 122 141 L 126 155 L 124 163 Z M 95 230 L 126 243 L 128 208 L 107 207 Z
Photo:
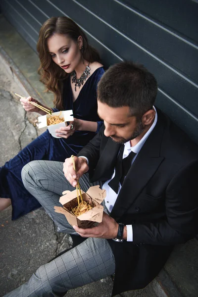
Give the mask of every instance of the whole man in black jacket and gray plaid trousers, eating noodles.
M 72 283 L 76 272 L 73 271 L 71 277 L 71 264 L 65 264 L 71 256 L 68 252 L 32 276 L 31 284 L 37 284 L 38 275 L 43 278 L 40 287 L 49 280 L 48 287 L 52 289 L 48 288 L 51 290 L 48 292 L 57 294 L 49 296 L 63 296 L 58 292 L 63 294 L 70 288 L 97 280 L 103 277 L 103 270 L 107 275 L 115 271 L 113 295 L 144 288 L 159 273 L 174 245 L 196 235 L 198 147 L 154 107 L 156 93 L 156 80 L 142 65 L 121 62 L 111 66 L 98 86 L 98 113 L 104 125 L 75 157 L 77 172 L 71 158 L 64 164 L 33 161 L 24 167 L 25 187 L 46 208 L 59 230 L 76 231 L 82 238 L 88 238 L 71 252 L 76 257 L 81 254 L 81 265 L 78 266 L 79 257 L 75 259 L 76 264 L 72 264 L 72 269 L 82 270 L 77 285 Z M 73 187 L 76 179 L 82 177 L 80 184 L 86 191 L 88 174 L 85 173 L 89 171 L 91 182 L 99 181 L 106 190 L 105 212 L 98 226 L 89 229 L 73 226 L 75 231 L 67 226 L 64 231 L 65 217 L 53 212 L 53 206 L 58 205 L 58 194 L 69 189 L 61 173 L 62 165 L 64 176 Z M 85 254 L 89 254 L 86 259 Z M 89 269 L 85 272 L 82 267 L 87 267 L 88 259 Z M 97 259 L 100 259 L 98 267 L 103 265 L 103 268 L 99 268 L 98 277 L 86 281 L 90 271 L 97 274 L 93 264 Z M 60 272 L 61 263 L 66 267 L 64 275 Z M 44 270 L 45 276 L 41 277 Z M 53 277 L 52 271 L 55 271 Z M 68 285 L 68 275 L 72 286 Z M 22 287 L 20 293 L 30 284 Z

